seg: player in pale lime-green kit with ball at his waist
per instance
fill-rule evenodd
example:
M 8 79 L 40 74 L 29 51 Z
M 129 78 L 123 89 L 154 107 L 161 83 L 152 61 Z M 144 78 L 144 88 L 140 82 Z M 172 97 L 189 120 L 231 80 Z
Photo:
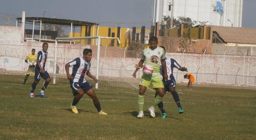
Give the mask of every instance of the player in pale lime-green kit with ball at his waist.
M 155 117 L 155 107 L 159 102 L 162 101 L 164 96 L 164 84 L 162 82 L 162 75 L 160 74 L 160 66 L 162 64 L 163 67 L 163 75 L 164 79 L 167 80 L 166 74 L 166 65 L 165 65 L 165 52 L 164 49 L 157 46 L 158 39 L 157 37 L 151 37 L 149 39 L 149 48 L 145 48 L 142 51 L 142 57 L 138 63 L 138 65 L 142 65 L 145 62 L 145 65 L 151 65 L 154 67 L 154 72 L 151 75 L 146 75 L 143 73 L 141 77 L 141 81 L 139 83 L 139 97 L 138 97 L 138 104 L 139 104 L 139 113 L 137 118 L 143 118 L 143 104 L 144 104 L 144 94 L 149 87 L 150 83 L 152 83 L 153 88 L 157 91 L 158 95 L 155 97 L 153 106 L 151 106 L 148 110 L 150 112 L 151 117 Z M 136 77 L 136 73 L 139 68 L 136 68 L 134 73 L 132 74 L 133 77 Z

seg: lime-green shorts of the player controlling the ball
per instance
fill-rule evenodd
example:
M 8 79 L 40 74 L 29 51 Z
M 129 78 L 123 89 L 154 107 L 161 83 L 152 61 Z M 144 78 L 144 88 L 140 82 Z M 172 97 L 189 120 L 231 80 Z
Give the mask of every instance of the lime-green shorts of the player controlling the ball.
M 153 88 L 164 88 L 162 75 L 160 73 L 153 73 L 152 75 L 143 74 L 139 85 L 149 88 L 150 83 L 152 83 Z

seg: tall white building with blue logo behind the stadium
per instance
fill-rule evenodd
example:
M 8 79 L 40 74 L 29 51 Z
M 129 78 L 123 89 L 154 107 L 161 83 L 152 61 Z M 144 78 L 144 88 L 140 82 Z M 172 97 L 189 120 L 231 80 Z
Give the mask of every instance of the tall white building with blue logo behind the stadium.
M 184 16 L 206 25 L 242 27 L 243 0 L 155 0 L 155 22 L 171 16 L 172 2 L 174 18 Z

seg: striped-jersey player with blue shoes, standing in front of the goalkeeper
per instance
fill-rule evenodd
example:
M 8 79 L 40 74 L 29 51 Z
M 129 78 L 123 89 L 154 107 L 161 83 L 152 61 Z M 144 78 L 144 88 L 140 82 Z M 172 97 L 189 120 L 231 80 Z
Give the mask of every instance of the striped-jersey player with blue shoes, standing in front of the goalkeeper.
M 41 91 L 38 92 L 40 97 L 47 98 L 45 95 L 44 91 L 47 88 L 47 85 L 51 82 L 50 75 L 48 74 L 46 70 L 46 59 L 48 56 L 48 43 L 44 42 L 42 46 L 42 50 L 38 51 L 37 53 L 37 59 L 36 59 L 36 67 L 35 67 L 35 80 L 31 85 L 31 90 L 30 90 L 30 98 L 35 98 L 34 91 L 36 89 L 37 83 L 40 81 L 41 77 L 44 78 L 45 82 L 43 84 L 43 87 Z

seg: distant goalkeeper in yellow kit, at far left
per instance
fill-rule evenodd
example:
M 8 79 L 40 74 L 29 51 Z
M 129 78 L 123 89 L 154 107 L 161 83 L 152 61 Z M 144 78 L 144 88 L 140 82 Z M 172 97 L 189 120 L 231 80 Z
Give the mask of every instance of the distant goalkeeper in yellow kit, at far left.
M 28 76 L 30 74 L 35 74 L 35 64 L 36 64 L 35 52 L 36 52 L 36 50 L 32 49 L 31 54 L 29 54 L 25 59 L 25 62 L 29 64 L 29 67 L 28 67 L 28 71 L 27 71 L 27 74 L 25 76 L 25 79 L 24 79 L 24 82 L 22 83 L 22 85 L 26 84 L 26 81 L 28 80 Z

